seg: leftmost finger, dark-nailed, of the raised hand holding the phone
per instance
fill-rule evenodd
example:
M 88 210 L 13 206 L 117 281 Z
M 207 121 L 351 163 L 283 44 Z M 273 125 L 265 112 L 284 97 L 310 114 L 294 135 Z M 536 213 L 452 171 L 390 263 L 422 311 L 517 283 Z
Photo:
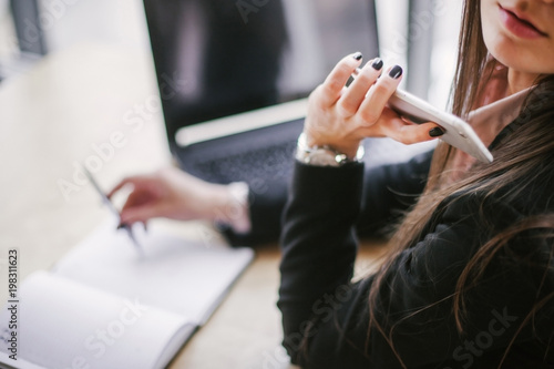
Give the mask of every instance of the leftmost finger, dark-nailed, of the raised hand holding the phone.
M 345 88 L 350 75 L 360 66 L 362 54 L 356 52 L 348 57 L 342 58 L 341 61 L 335 65 L 325 82 L 321 84 L 320 99 L 322 104 L 330 106 L 340 98 L 340 92 Z

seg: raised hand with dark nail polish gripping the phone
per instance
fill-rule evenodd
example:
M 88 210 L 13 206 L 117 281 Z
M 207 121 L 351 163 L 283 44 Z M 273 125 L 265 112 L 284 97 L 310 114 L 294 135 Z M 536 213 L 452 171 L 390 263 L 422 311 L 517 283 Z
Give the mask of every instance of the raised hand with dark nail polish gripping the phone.
M 435 123 L 413 124 L 387 106 L 401 81 L 398 65 L 382 72 L 382 61 L 369 61 L 346 88 L 361 63 L 359 53 L 342 59 L 326 81 L 310 94 L 304 126 L 309 146 L 328 145 L 355 157 L 366 137 L 391 137 L 404 144 L 433 140 Z

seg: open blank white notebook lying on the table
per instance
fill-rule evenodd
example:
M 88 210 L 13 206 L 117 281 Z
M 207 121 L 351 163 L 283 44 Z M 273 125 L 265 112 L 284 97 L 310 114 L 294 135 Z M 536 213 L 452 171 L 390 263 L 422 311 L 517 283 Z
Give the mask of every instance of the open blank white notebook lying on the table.
M 0 314 L 0 362 L 14 368 L 164 368 L 214 312 L 254 254 L 138 234 L 143 255 L 112 223 L 51 271 L 19 288 L 18 361 Z M 1 367 L 1 365 L 0 365 Z

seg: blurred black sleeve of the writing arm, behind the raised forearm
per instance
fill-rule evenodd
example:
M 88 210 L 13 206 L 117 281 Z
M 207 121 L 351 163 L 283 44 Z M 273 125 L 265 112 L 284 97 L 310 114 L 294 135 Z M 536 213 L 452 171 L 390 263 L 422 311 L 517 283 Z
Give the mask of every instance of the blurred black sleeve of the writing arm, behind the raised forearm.
M 359 235 L 378 234 L 414 203 L 425 185 L 432 153 L 417 155 L 407 163 L 381 165 L 363 172 L 366 185 L 357 227 Z M 232 245 L 256 245 L 279 238 L 289 180 L 280 178 L 267 183 L 263 188 L 250 188 L 248 203 L 252 230 L 236 234 L 228 227 L 222 227 Z

